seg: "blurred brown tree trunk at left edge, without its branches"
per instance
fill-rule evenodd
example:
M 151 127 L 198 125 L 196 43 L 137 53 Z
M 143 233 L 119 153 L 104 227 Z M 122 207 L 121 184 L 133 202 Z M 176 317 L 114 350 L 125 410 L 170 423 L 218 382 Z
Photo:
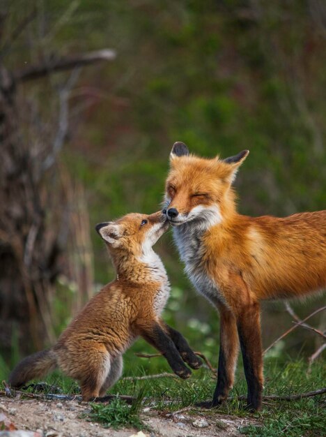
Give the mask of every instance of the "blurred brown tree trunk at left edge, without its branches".
M 20 137 L 15 82 L 0 76 L 0 343 L 10 350 L 39 348 L 46 336 L 47 286 L 56 276 L 59 250 L 45 248 L 45 212 L 32 147 Z M 47 335 L 46 335 L 47 334 Z

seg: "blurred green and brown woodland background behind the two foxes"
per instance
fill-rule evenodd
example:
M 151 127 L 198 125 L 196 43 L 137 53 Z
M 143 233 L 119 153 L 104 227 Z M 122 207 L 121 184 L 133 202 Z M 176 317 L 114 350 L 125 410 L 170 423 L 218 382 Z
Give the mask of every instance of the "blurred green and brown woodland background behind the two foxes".
M 3 378 L 114 278 L 94 226 L 160 209 L 176 140 L 201 156 L 250 149 L 235 182 L 242 214 L 325 209 L 325 43 L 323 0 L 1 0 Z M 217 313 L 171 231 L 156 250 L 172 285 L 165 320 L 216 364 Z M 303 318 L 323 304 L 291 305 Z M 264 346 L 292 320 L 264 304 Z M 325 329 L 320 313 L 311 324 Z M 319 342 L 296 329 L 270 354 L 306 359 Z M 138 341 L 125 373 L 160 368 L 135 351 L 153 349 Z

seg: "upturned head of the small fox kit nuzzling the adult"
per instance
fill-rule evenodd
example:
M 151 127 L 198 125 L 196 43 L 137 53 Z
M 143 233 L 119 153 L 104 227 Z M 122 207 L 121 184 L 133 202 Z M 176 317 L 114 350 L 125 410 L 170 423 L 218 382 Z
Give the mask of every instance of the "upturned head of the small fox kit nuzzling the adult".
M 117 221 L 99 223 L 95 227 L 110 253 L 127 251 L 137 257 L 145 255 L 167 228 L 169 221 L 162 212 L 127 214 Z

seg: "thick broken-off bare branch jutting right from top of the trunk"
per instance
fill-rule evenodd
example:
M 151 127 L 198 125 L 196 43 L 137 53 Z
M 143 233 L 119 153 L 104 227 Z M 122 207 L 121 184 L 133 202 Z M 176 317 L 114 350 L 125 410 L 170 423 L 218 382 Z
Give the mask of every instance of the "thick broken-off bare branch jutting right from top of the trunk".
M 95 64 L 100 61 L 113 61 L 116 58 L 114 50 L 103 49 L 96 52 L 80 54 L 75 57 L 65 57 L 56 59 L 51 64 L 40 64 L 24 68 L 22 71 L 14 73 L 14 79 L 17 82 L 26 82 L 27 80 L 39 79 L 46 75 L 58 71 L 71 70 L 72 68 L 82 67 L 89 64 Z

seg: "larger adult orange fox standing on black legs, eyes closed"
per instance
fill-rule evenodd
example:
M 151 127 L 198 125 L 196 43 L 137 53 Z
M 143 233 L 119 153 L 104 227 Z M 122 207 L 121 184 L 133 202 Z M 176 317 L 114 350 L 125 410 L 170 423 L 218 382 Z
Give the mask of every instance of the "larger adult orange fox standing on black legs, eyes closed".
M 164 213 L 189 279 L 220 313 L 217 406 L 233 386 L 238 339 L 251 410 L 261 407 L 262 299 L 300 297 L 326 286 L 326 211 L 286 218 L 235 210 L 232 182 L 248 150 L 224 160 L 189 154 L 176 142 Z

